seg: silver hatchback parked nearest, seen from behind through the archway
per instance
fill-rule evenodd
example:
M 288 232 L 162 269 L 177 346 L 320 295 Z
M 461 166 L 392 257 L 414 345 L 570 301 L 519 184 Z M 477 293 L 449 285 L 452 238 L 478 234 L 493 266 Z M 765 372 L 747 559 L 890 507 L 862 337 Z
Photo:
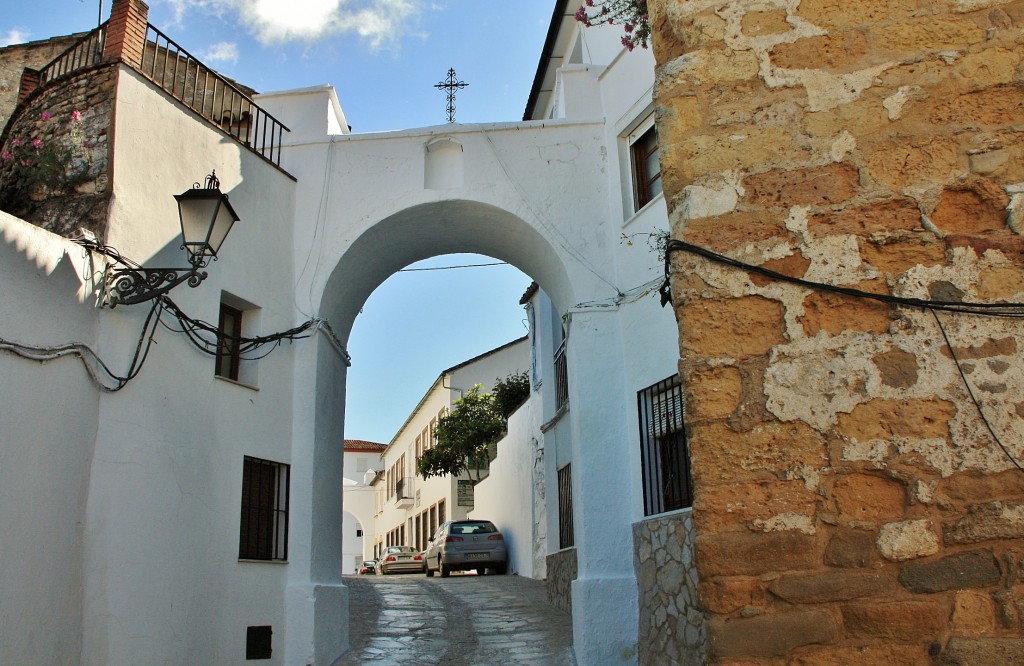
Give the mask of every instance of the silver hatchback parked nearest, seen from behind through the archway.
M 423 572 L 441 578 L 454 571 L 476 570 L 482 576 L 488 570 L 507 574 L 508 548 L 505 537 L 490 521 L 449 521 L 442 523 L 430 539 L 423 555 Z

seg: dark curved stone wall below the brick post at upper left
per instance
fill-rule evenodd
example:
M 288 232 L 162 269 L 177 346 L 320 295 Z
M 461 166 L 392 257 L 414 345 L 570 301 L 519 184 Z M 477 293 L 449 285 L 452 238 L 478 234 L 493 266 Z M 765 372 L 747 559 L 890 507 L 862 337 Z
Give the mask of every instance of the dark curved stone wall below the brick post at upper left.
M 111 197 L 110 132 L 113 129 L 117 65 L 84 71 L 58 85 L 38 90 L 0 134 L 3 151 L 12 143 L 80 144 L 67 168 L 74 174 L 67 191 L 47 185 L 22 189 L 13 160 L 0 159 L 0 206 L 22 219 L 60 236 L 79 227 L 102 240 Z M 74 138 L 72 114 L 81 114 L 80 137 Z M 48 119 L 44 119 L 44 113 Z

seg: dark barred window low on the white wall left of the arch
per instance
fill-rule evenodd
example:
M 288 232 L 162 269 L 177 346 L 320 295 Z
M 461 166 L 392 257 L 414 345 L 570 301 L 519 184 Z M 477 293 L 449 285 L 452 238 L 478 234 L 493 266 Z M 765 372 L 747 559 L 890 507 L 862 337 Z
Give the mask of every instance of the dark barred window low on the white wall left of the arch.
M 246 456 L 239 559 L 288 559 L 289 466 Z

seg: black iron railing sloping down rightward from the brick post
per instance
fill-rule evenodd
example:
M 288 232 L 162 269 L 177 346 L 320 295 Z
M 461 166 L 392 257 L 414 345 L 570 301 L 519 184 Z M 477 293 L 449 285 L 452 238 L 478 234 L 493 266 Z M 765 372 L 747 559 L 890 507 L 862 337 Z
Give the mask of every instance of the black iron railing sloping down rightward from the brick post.
M 281 143 L 288 127 L 152 25 L 146 26 L 141 74 L 252 152 L 281 166 Z

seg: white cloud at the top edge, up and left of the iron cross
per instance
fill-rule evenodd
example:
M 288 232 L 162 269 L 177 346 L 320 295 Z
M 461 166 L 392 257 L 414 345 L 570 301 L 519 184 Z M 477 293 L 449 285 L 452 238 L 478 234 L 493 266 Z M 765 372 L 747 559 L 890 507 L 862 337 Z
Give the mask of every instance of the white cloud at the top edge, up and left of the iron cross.
M 175 22 L 191 9 L 239 15 L 264 44 L 354 33 L 371 48 L 396 43 L 423 11 L 418 0 L 166 0 Z

